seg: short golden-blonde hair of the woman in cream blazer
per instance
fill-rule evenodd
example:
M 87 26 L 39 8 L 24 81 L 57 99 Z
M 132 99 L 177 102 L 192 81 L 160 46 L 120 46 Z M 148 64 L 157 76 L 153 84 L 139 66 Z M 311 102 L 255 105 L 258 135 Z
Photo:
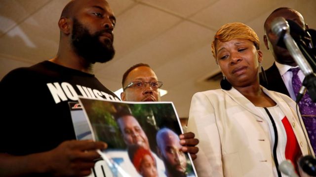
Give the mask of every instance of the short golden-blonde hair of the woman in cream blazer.
M 249 26 L 243 24 L 243 23 L 229 23 L 226 25 L 223 25 L 218 31 L 216 32 L 214 36 L 214 40 L 212 42 L 212 54 L 215 59 L 215 62 L 217 63 L 216 59 L 216 42 L 217 40 L 221 42 L 228 42 L 233 39 L 247 39 L 253 42 L 256 49 L 259 50 L 260 41 L 257 33 L 250 28 Z

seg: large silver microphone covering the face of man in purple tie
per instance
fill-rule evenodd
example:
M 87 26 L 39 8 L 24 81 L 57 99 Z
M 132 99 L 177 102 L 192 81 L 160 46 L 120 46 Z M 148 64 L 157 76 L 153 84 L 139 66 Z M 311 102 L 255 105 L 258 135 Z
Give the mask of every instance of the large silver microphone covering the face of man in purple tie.
M 279 36 L 279 39 L 283 38 L 287 50 L 295 62 L 299 65 L 304 75 L 307 76 L 312 74 L 313 70 L 311 65 L 306 61 L 302 52 L 299 50 L 297 44 L 289 33 L 290 29 L 287 21 L 283 17 L 277 17 L 272 22 L 271 27 L 276 36 Z

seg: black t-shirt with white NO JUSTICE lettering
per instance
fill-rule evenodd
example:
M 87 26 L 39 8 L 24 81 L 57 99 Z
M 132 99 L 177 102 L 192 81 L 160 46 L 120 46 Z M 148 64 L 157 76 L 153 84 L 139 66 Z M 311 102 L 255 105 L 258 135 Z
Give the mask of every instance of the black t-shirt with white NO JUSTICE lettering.
M 50 61 L 12 70 L 0 82 L 0 152 L 25 155 L 76 139 L 68 102 L 78 95 L 119 100 L 94 75 Z

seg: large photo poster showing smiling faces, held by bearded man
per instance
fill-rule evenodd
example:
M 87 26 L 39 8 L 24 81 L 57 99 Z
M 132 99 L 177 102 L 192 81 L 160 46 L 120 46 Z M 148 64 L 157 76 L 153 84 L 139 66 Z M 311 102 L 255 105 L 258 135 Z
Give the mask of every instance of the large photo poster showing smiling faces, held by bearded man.
M 197 177 L 191 157 L 180 151 L 178 137 L 183 131 L 172 102 L 79 97 L 79 103 L 93 140 L 108 144 L 100 152 L 110 169 L 107 177 L 167 177 L 166 171 L 173 176 Z

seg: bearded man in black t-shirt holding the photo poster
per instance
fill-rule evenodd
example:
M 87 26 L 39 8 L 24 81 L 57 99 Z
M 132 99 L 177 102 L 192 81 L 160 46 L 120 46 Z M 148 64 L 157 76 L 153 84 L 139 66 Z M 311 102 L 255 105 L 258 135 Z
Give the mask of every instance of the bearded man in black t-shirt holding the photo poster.
M 69 101 L 119 100 L 93 75 L 114 57 L 115 16 L 105 0 L 72 0 L 58 25 L 56 57 L 8 73 L 0 82 L 0 176 L 87 176 L 102 142 L 77 141 Z

